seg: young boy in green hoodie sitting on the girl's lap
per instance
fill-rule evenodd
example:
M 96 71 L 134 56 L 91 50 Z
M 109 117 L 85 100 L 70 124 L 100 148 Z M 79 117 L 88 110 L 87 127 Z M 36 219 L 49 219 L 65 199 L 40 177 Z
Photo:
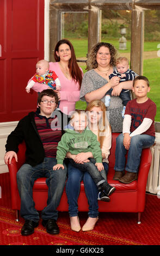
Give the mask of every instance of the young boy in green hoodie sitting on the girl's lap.
M 97 187 L 103 191 L 103 198 L 99 200 L 108 201 L 108 197 L 115 190 L 115 187 L 110 186 L 100 172 L 104 168 L 102 164 L 102 151 L 100 143 L 97 141 L 97 136 L 88 129 L 87 114 L 84 111 L 75 111 L 71 115 L 70 125 L 72 129 L 66 129 L 65 134 L 61 137 L 61 141 L 57 146 L 57 164 L 53 166 L 53 170 L 63 168 L 63 161 L 66 153 L 70 152 L 73 155 L 78 153 L 91 152 L 94 159 L 89 158 L 87 162 L 76 163 L 70 159 L 71 164 L 81 169 L 83 172 L 89 172 Z M 105 196 L 106 194 L 106 196 Z

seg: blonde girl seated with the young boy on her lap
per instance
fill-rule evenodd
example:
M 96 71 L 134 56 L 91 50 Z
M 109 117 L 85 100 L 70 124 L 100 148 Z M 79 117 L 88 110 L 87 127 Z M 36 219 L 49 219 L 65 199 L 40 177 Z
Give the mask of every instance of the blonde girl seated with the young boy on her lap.
M 107 180 L 108 172 L 108 156 L 109 150 L 112 142 L 112 133 L 107 119 L 107 112 L 104 103 L 101 100 L 91 101 L 85 111 L 88 114 L 89 120 L 89 129 L 93 131 L 97 140 L 100 142 L 102 150 L 102 159 L 104 170 L 101 171 L 103 178 Z M 88 159 L 93 157 L 91 152 L 79 153 L 76 156 L 67 154 L 67 157 L 74 159 L 77 163 L 83 163 L 89 161 Z M 98 205 L 98 196 L 99 192 L 94 180 L 91 178 L 88 172 L 82 172 L 81 170 L 73 167 L 69 164 L 68 168 L 68 179 L 66 184 L 66 193 L 69 203 L 69 214 L 71 221 L 71 229 L 74 231 L 80 231 L 81 226 L 79 224 L 78 218 L 78 196 L 81 187 L 81 181 L 84 182 L 85 193 L 88 198 L 89 203 L 89 212 L 87 222 L 82 227 L 83 231 L 93 230 L 97 220 L 99 219 L 99 205 Z M 99 196 L 100 198 L 100 196 Z M 101 195 L 102 198 L 102 195 Z M 109 201 L 108 197 L 108 201 Z

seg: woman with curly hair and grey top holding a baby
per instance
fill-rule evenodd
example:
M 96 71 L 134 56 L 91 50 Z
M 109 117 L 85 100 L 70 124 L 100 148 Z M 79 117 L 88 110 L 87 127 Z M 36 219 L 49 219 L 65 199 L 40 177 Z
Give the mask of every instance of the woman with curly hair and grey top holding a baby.
M 82 80 L 80 99 L 87 102 L 102 100 L 106 92 L 113 88 L 110 105 L 107 108 L 108 119 L 112 132 L 122 132 L 122 100 L 119 95 L 122 89 L 131 90 L 133 81 L 119 83 L 119 77 L 109 75 L 115 70 L 117 51 L 112 44 L 99 42 L 91 48 L 88 58 L 88 66 L 91 70 L 87 71 Z

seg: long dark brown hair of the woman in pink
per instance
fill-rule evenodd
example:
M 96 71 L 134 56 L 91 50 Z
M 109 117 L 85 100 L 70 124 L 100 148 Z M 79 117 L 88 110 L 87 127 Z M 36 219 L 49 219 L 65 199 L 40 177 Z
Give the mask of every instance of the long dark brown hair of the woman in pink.
M 75 50 L 71 44 L 71 42 L 67 39 L 62 39 L 60 41 L 57 42 L 57 45 L 54 49 L 54 59 L 56 60 L 56 62 L 60 61 L 60 58 L 57 56 L 56 52 L 59 51 L 59 46 L 63 45 L 63 44 L 67 44 L 69 45 L 70 49 L 71 49 L 71 58 L 69 60 L 69 70 L 70 70 L 70 75 L 72 77 L 72 79 L 79 83 L 79 89 L 81 88 L 81 83 L 82 83 L 82 71 L 79 68 L 78 64 L 77 64 L 77 60 L 76 60 L 76 56 L 75 56 Z

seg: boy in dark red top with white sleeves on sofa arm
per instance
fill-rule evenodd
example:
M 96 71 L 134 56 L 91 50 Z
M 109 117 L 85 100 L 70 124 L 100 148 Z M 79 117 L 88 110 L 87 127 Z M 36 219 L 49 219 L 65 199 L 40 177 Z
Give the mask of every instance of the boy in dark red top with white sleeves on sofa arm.
M 114 180 L 130 183 L 137 179 L 141 150 L 155 142 L 156 104 L 147 97 L 149 81 L 138 76 L 133 81 L 136 99 L 128 101 L 123 122 L 122 134 L 116 139 Z M 128 150 L 125 167 L 125 155 Z M 127 172 L 124 174 L 124 170 Z

